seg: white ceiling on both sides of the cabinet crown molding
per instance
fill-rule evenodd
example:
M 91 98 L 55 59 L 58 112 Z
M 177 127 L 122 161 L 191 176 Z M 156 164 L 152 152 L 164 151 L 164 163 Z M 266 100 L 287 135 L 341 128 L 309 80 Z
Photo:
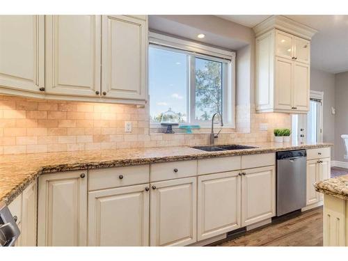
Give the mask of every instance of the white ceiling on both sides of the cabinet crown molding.
M 348 71 L 348 15 L 285 15 L 318 30 L 311 43 L 311 65 L 326 72 Z M 253 27 L 269 15 L 219 15 Z

